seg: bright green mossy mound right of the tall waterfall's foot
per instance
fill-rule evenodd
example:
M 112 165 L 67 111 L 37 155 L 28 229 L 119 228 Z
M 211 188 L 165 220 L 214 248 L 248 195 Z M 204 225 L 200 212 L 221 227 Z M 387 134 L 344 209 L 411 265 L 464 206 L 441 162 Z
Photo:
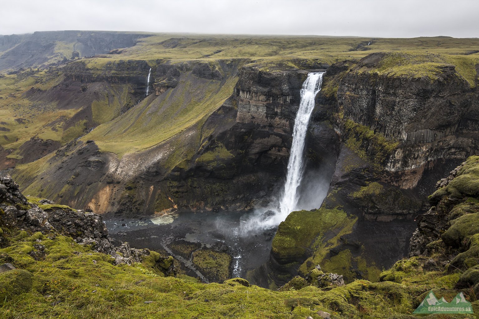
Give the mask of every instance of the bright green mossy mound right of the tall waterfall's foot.
M 349 250 L 331 253 L 341 244 L 340 237 L 352 231 L 356 220 L 340 209 L 293 212 L 278 227 L 272 243 L 273 256 L 288 269 L 296 269 L 296 261 L 303 258 L 304 262 L 297 268 L 303 276 L 319 264 L 324 271 L 338 273 L 346 281 L 352 281 L 354 269 L 359 266 L 367 278 L 376 280 L 379 269 L 361 255 L 353 256 Z

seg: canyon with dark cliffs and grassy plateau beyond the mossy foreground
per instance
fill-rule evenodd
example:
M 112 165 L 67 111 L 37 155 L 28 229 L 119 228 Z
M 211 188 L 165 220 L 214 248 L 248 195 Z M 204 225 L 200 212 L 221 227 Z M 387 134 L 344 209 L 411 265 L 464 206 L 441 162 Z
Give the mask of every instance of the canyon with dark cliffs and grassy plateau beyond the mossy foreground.
M 297 211 L 251 232 L 266 248 L 240 274 L 272 289 L 318 267 L 376 282 L 411 253 L 411 236 L 424 253 L 432 235 L 418 236 L 432 226 L 417 221 L 440 201 L 428 195 L 479 153 L 474 39 L 38 32 L 0 38 L 0 72 L 0 174 L 119 224 L 267 218 L 285 187 L 300 90 L 324 73 Z M 148 227 L 112 236 L 141 242 Z M 205 251 L 182 241 L 194 264 Z M 226 246 L 206 251 L 234 258 Z

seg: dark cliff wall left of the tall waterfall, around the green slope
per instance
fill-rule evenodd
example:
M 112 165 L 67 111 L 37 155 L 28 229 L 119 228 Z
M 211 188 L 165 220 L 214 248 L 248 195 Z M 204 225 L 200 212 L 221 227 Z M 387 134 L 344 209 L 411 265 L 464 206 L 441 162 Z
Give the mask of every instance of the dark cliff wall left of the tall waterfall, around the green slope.
M 96 212 L 152 214 L 170 209 L 250 209 L 269 203 L 270 196 L 282 187 L 299 89 L 308 72 L 267 72 L 242 67 L 243 64 L 242 60 L 233 64 L 160 63 L 156 72 L 153 68 L 150 79 L 155 94 L 147 99 L 147 104 L 137 105 L 136 110 L 155 108 L 155 101 L 181 92 L 187 88 L 185 81 L 195 78 L 201 83 L 217 81 L 220 85 L 231 76 L 237 80 L 229 98 L 200 126 L 192 126 L 166 143 L 118 160 L 114 154 L 101 152 L 95 142 L 72 142 L 54 157 L 44 159 L 49 163 L 40 174 L 44 179 L 18 178 L 43 196 Z M 122 67 L 126 71 L 118 72 Z M 85 95 L 91 88 L 96 91 L 100 83 L 125 83 L 138 92 L 134 86 L 138 83 L 137 75 L 148 74 L 148 69 L 141 61 L 107 65 L 102 72 L 92 72 L 80 61 L 71 63 L 63 68 L 69 84 L 61 92 L 66 94 L 73 87 L 80 94 L 81 87 L 86 86 L 81 93 Z M 60 92 L 60 88 L 54 90 Z M 85 114 L 88 117 L 90 113 Z M 331 163 L 337 155 L 337 134 L 324 123 L 315 123 L 313 127 L 309 135 L 316 141 L 308 147 L 310 165 L 317 168 L 321 163 L 329 163 L 331 175 Z M 187 154 L 174 162 L 174 153 L 180 149 Z M 330 151 L 322 152 L 327 149 Z M 79 167 L 84 166 L 90 174 L 81 172 Z M 65 170 L 71 174 L 65 174 Z M 64 179 L 65 183 L 60 187 L 49 176 Z M 81 197 L 74 195 L 79 188 Z

